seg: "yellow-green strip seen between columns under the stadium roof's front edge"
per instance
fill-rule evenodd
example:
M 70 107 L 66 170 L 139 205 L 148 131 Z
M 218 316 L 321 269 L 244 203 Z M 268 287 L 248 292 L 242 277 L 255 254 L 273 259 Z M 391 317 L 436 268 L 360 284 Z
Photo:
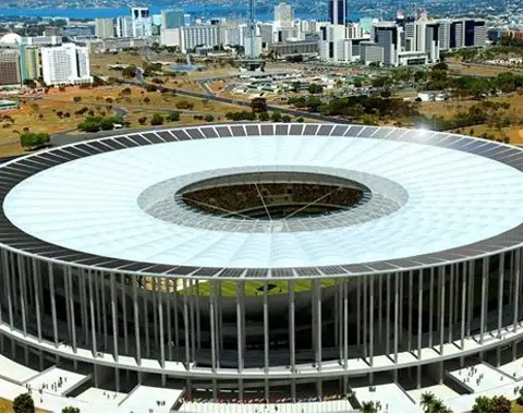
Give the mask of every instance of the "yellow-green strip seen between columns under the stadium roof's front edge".
M 321 288 L 329 288 L 336 284 L 337 279 L 323 279 Z M 269 295 L 275 296 L 279 294 L 287 294 L 289 292 L 289 283 L 287 280 L 275 280 L 268 282 Z M 294 282 L 294 292 L 306 292 L 312 290 L 311 280 L 296 280 Z M 190 294 L 196 294 L 196 287 L 187 288 Z M 208 296 L 210 292 L 210 283 L 199 283 L 199 296 Z M 257 296 L 264 294 L 264 284 L 259 281 L 246 281 L 245 282 L 245 296 Z M 235 296 L 236 295 L 236 282 L 224 281 L 221 283 L 222 296 Z

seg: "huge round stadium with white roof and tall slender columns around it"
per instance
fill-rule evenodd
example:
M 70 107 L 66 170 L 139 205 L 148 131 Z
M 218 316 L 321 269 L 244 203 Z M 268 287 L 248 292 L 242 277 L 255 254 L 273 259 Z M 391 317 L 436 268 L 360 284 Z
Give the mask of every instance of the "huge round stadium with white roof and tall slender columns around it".
M 490 141 L 300 123 L 15 159 L 2 354 L 240 400 L 499 365 L 521 356 L 522 168 Z

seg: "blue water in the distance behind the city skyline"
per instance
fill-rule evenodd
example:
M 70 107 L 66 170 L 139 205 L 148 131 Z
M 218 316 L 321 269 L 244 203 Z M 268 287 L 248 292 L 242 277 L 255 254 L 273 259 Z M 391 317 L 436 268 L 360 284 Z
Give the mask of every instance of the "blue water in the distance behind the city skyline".
M 151 7 L 151 14 L 160 13 L 160 8 Z M 247 8 L 245 5 L 199 5 L 184 7 L 185 13 L 190 13 L 193 17 L 246 17 Z M 118 17 L 131 14 L 129 8 L 121 9 L 0 9 L 0 16 L 20 16 L 20 17 L 69 17 L 89 19 L 96 17 Z M 306 8 L 296 8 L 295 16 L 307 20 L 326 20 L 325 13 L 313 12 Z M 319 14 L 319 15 L 318 15 Z M 351 13 L 349 20 L 358 21 L 360 14 Z M 273 19 L 273 8 L 259 5 L 256 8 L 256 19 L 259 21 L 270 21 Z

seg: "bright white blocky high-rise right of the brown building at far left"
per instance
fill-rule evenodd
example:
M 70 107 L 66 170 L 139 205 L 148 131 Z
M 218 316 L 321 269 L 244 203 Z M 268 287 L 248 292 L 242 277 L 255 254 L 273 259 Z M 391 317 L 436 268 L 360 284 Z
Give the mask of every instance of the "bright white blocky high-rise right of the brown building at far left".
M 93 82 L 89 52 L 74 44 L 41 48 L 41 72 L 48 85 Z

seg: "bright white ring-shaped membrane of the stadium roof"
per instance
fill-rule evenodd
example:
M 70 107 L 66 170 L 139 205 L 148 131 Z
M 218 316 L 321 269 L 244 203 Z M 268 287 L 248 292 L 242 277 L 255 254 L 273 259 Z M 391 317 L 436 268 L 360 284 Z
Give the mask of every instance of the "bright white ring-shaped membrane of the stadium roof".
M 199 228 L 196 219 L 184 224 L 155 218 L 137 203 L 147 188 L 179 176 L 327 168 L 387 179 L 408 197 L 381 217 L 303 231 L 281 231 L 281 222 L 264 231 Z M 523 222 L 521 188 L 518 169 L 441 146 L 332 135 L 243 136 L 160 143 L 64 162 L 16 184 L 3 210 L 23 232 L 92 255 L 173 266 L 316 267 L 426 255 L 494 238 Z

